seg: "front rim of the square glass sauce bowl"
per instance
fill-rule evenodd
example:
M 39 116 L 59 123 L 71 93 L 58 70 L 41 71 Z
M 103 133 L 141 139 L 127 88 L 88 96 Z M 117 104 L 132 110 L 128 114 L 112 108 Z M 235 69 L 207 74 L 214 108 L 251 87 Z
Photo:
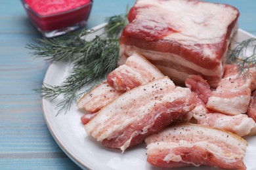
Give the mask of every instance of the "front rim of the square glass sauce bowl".
M 32 12 L 33 14 L 35 14 L 35 16 L 39 17 L 39 18 L 47 18 L 47 17 L 52 17 L 52 16 L 59 16 L 59 15 L 62 15 L 62 14 L 68 14 L 70 12 L 74 12 L 75 10 L 79 10 L 79 9 L 82 9 L 84 7 L 87 7 L 89 5 L 92 5 L 93 4 L 93 0 L 89 0 L 89 3 L 86 3 L 85 5 L 81 5 L 79 7 L 76 7 L 74 9 L 70 9 L 70 10 L 65 10 L 63 12 L 58 12 L 58 13 L 54 13 L 54 14 L 47 14 L 47 15 L 41 15 L 41 14 L 38 14 L 37 12 L 35 12 L 35 10 L 33 10 L 29 5 L 28 3 L 26 3 L 25 0 L 20 0 L 22 2 L 22 5 L 24 6 L 24 8 L 26 10 L 29 10 L 30 12 Z

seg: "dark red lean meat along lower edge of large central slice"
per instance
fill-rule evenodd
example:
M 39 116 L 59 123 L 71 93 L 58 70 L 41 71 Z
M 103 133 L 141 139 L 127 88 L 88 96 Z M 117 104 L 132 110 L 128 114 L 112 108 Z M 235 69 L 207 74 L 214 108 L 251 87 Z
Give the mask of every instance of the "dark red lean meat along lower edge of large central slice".
M 191 105 L 191 103 L 189 103 L 189 105 Z M 102 144 L 109 148 L 121 148 L 121 146 L 133 136 L 129 147 L 142 143 L 148 135 L 157 133 L 160 129 L 163 129 L 169 124 L 177 122 L 179 117 L 186 113 L 182 108 L 187 106 L 188 103 L 184 103 L 184 99 L 177 99 L 172 103 L 158 105 L 148 112 L 150 116 L 133 122 L 119 137 L 104 139 Z M 142 131 L 144 126 L 150 126 L 150 128 L 147 129 L 147 133 L 137 134 L 138 131 Z

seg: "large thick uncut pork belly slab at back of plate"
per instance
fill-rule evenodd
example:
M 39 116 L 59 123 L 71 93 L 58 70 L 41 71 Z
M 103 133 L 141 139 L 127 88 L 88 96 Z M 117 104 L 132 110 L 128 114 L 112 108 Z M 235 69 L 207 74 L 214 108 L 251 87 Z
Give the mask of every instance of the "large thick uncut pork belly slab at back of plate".
M 223 76 L 239 12 L 196 0 L 137 0 L 120 39 L 119 63 L 139 52 L 175 82 L 202 75 L 213 87 Z

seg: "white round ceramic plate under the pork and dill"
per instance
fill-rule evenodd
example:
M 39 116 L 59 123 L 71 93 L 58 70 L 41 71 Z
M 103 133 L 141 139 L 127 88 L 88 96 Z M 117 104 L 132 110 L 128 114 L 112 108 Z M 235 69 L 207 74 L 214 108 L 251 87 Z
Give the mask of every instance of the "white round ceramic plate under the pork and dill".
M 99 25 L 98 27 L 102 27 Z M 92 35 L 92 36 L 95 36 Z M 234 39 L 238 42 L 249 39 L 253 35 L 239 30 Z M 91 37 L 92 38 L 92 37 Z M 69 63 L 53 63 L 50 65 L 43 82 L 51 85 L 58 85 L 68 76 Z M 152 167 L 146 161 L 146 146 L 140 144 L 126 150 L 121 154 L 120 150 L 105 148 L 100 143 L 87 137 L 80 118 L 83 115 L 72 105 L 67 114 L 59 114 L 55 109 L 56 104 L 61 100 L 49 101 L 43 99 L 43 112 L 47 126 L 60 148 L 83 169 L 158 169 Z M 247 137 L 249 146 L 245 154 L 244 162 L 247 169 L 256 169 L 256 137 Z M 180 169 L 205 169 L 205 167 L 186 167 Z M 211 169 L 207 167 L 207 169 Z M 212 168 L 214 169 L 214 168 Z

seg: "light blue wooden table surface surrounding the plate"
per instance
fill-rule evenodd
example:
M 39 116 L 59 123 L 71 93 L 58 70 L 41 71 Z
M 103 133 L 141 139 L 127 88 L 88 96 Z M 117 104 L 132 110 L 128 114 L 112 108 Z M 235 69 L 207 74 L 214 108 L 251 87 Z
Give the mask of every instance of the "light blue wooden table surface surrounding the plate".
M 125 12 L 135 0 L 95 0 L 87 28 Z M 240 28 L 256 35 L 256 1 L 214 1 L 240 10 Z M 41 86 L 49 63 L 24 48 L 41 35 L 20 1 L 0 0 L 0 169 L 79 169 L 54 141 L 43 117 Z

